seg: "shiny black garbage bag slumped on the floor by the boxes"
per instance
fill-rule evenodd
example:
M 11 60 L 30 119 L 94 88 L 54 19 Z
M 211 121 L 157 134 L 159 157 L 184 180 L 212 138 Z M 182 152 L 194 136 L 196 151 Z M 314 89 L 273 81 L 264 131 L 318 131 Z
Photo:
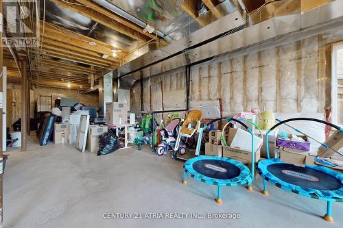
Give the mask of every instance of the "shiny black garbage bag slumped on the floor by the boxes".
M 99 151 L 97 156 L 113 153 L 120 149 L 121 145 L 118 136 L 115 135 L 115 130 L 108 130 L 103 136 L 99 137 Z

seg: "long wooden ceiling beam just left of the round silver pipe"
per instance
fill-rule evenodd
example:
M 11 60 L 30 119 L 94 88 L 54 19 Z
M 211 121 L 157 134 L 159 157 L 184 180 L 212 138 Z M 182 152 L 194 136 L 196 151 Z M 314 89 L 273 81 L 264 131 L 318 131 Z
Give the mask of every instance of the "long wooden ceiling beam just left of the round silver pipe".
M 108 16 L 105 16 L 104 14 L 101 14 L 97 12 L 96 10 L 93 10 L 93 8 L 86 8 L 81 5 L 71 4 L 71 3 L 67 3 L 66 1 L 61 1 L 61 0 L 50 0 L 50 1 L 52 1 L 53 3 L 56 3 L 56 5 L 60 5 L 64 8 L 67 8 L 68 10 L 77 12 L 78 14 L 81 14 L 82 16 L 86 16 L 87 18 L 90 18 L 97 23 L 105 25 L 106 27 L 109 27 L 110 29 L 119 31 L 121 34 L 124 34 L 130 38 L 133 38 L 134 40 L 140 40 L 142 42 L 147 42 L 148 40 L 150 40 L 149 38 L 147 38 L 147 36 L 139 33 L 138 31 L 131 29 L 130 27 L 126 27 L 125 25 L 121 25 L 120 23 L 115 23 L 111 18 L 108 18 Z

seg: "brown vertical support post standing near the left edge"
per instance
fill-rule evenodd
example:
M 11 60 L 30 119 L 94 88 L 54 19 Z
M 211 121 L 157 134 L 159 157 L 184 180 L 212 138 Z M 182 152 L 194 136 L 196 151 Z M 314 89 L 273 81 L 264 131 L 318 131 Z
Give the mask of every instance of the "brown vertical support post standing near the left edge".
M 21 62 L 21 151 L 26 151 L 27 142 L 27 62 Z

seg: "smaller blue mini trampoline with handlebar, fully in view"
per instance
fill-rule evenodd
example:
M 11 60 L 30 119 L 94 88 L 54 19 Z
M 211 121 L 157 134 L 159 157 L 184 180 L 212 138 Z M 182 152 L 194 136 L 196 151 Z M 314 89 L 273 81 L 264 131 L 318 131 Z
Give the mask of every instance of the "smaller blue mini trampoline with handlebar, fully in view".
M 200 129 L 200 135 L 198 138 L 198 147 L 197 147 L 197 154 L 200 151 L 200 143 L 202 140 L 202 132 L 206 127 L 215 123 L 216 121 L 220 121 L 223 118 L 218 118 L 214 121 L 211 121 L 202 129 Z M 234 118 L 226 118 L 228 121 L 235 121 L 240 123 L 244 126 L 250 134 L 253 136 L 252 131 L 241 121 L 236 120 Z M 221 199 L 221 187 L 222 186 L 243 186 L 247 185 L 248 190 L 252 190 L 251 183 L 254 179 L 254 140 L 252 138 L 252 170 L 250 171 L 247 166 L 238 162 L 237 160 L 233 160 L 227 157 L 217 157 L 217 156 L 207 156 L 201 155 L 193 157 L 183 166 L 183 184 L 186 185 L 187 181 L 187 173 L 198 181 L 202 181 L 204 183 L 209 183 L 217 186 L 217 199 L 215 201 L 218 204 L 222 204 Z

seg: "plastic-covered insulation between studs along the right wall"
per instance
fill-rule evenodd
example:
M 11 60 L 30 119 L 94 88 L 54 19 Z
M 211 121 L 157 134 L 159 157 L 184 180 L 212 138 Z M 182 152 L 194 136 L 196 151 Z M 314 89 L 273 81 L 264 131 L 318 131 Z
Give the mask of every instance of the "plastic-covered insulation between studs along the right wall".
M 319 42 L 320 37 L 322 42 Z M 224 114 L 258 108 L 285 113 L 318 113 L 320 108 L 320 80 L 327 79 L 322 105 L 331 104 L 330 76 L 320 75 L 319 51 L 330 42 L 342 40 L 343 31 L 290 40 L 278 47 L 263 51 L 228 53 L 210 62 L 191 67 L 191 101 L 222 99 Z M 323 66 L 325 63 L 321 63 Z M 165 110 L 185 107 L 185 67 L 144 79 L 144 109 L 150 110 L 149 88 L 163 84 Z M 279 81 L 278 81 L 279 80 Z M 277 89 L 279 86 L 279 90 Z M 132 86 L 132 107 L 140 110 L 139 82 Z M 279 101 L 277 100 L 279 97 Z M 198 102 L 199 101 L 199 102 Z

